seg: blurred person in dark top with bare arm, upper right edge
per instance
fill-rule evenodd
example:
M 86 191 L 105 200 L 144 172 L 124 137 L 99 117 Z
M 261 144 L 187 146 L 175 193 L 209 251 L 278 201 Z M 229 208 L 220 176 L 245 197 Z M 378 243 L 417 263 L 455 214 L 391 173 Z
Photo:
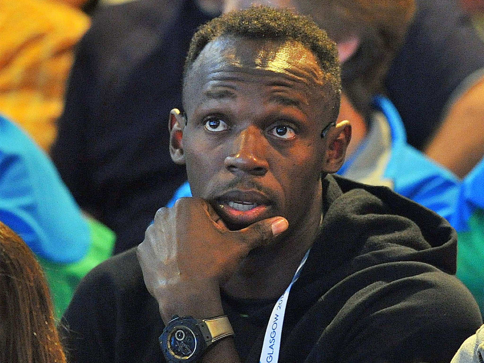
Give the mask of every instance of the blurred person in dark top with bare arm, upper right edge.
M 459 177 L 481 160 L 484 42 L 457 0 L 417 0 L 386 86 L 411 145 Z

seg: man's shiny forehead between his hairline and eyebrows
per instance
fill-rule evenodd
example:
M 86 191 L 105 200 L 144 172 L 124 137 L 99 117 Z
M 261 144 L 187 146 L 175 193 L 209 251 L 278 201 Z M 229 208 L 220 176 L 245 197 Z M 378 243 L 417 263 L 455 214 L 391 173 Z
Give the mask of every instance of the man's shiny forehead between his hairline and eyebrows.
M 193 96 L 203 85 L 222 74 L 245 74 L 250 77 L 287 80 L 308 92 L 323 91 L 326 75 L 318 58 L 302 43 L 218 37 L 208 43 L 194 61 L 185 79 L 184 96 Z

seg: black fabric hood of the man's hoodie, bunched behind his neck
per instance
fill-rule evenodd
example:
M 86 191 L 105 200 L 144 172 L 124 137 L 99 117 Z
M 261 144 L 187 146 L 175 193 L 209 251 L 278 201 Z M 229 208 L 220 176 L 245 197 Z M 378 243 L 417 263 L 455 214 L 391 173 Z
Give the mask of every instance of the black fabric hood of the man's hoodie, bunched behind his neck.
M 310 264 L 313 258 L 324 261 L 323 270 L 331 272 L 348 262 L 360 270 L 419 261 L 455 273 L 457 234 L 437 213 L 387 187 L 337 175 L 323 179 L 323 196 L 323 224 Z

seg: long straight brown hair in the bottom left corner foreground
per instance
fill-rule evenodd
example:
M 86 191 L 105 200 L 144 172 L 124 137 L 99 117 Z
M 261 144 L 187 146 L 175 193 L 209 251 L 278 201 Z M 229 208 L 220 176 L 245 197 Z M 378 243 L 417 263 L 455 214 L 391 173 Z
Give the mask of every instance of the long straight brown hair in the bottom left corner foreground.
M 44 273 L 0 222 L 0 362 L 65 363 Z

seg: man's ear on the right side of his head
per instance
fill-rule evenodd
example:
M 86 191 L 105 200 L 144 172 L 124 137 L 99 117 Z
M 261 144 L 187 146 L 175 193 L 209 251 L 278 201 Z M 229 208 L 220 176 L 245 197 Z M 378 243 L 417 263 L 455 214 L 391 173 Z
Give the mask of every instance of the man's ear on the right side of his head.
M 335 173 L 345 162 L 346 149 L 351 140 L 351 125 L 348 120 L 340 121 L 326 135 L 328 138 L 322 172 Z

